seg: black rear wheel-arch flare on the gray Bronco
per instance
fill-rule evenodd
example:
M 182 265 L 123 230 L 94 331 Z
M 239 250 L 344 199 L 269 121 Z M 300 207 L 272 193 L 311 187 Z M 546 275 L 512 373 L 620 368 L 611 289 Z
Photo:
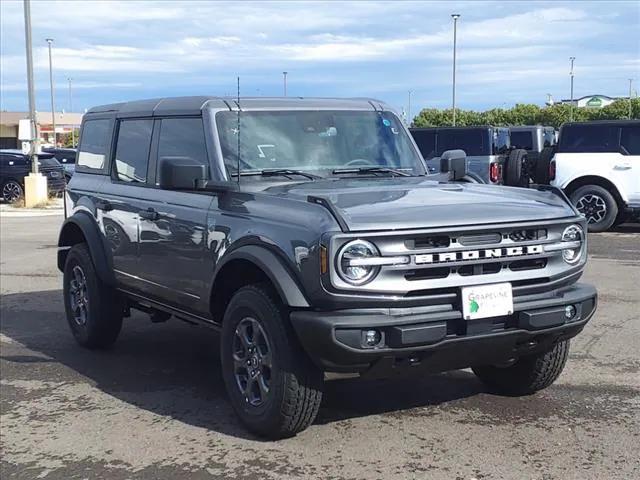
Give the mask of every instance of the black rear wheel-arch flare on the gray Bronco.
M 62 224 L 58 237 L 58 269 L 64 271 L 69 248 L 82 242 L 89 248 L 98 277 L 108 285 L 115 285 L 111 255 L 102 241 L 98 224 L 89 213 L 82 210 L 74 213 Z

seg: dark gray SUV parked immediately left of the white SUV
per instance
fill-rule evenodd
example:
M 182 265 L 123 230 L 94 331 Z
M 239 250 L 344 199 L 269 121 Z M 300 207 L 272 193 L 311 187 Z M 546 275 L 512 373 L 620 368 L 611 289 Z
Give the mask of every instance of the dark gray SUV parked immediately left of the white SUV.
M 544 125 L 522 125 L 509 127 L 511 147 L 526 150 L 527 161 L 524 175 L 539 184 L 549 183 L 549 160 L 553 156 L 556 130 Z M 541 159 L 538 162 L 538 159 Z

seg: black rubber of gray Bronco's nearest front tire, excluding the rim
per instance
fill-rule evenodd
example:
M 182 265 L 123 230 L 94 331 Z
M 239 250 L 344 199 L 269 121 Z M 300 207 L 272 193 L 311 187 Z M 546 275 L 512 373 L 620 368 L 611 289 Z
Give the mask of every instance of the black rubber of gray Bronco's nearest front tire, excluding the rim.
M 249 403 L 241 391 L 233 359 L 236 328 L 249 317 L 260 324 L 271 349 L 269 393 L 259 406 Z M 222 323 L 220 353 L 231 405 L 250 431 L 286 438 L 313 423 L 322 400 L 323 374 L 302 350 L 287 309 L 268 285 L 248 285 L 233 295 Z

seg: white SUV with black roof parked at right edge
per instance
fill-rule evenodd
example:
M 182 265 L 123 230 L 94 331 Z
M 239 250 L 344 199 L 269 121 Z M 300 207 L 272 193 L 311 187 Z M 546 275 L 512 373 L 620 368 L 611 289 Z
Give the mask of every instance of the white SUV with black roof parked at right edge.
M 603 232 L 640 214 L 640 120 L 567 123 L 549 164 L 560 187 Z

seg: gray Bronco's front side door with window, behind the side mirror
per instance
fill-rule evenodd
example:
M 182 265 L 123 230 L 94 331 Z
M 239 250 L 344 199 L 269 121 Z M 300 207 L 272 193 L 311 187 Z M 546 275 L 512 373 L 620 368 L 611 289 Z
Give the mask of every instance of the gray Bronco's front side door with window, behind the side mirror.
M 189 157 L 210 171 L 201 117 L 156 120 L 151 151 L 154 178 L 163 157 Z M 189 313 L 207 315 L 213 263 L 207 255 L 207 214 L 215 195 L 163 190 L 156 184 L 140 199 L 140 275 L 147 293 Z

